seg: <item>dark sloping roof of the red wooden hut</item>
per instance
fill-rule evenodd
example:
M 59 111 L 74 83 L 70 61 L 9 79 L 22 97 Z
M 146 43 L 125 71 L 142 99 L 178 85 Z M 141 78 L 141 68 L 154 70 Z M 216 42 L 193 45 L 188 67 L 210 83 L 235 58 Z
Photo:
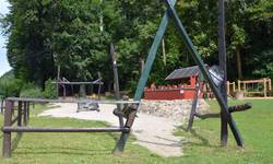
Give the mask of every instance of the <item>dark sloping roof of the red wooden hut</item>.
M 189 78 L 189 77 L 198 75 L 198 74 L 199 74 L 199 68 L 198 66 L 193 66 L 193 67 L 187 67 L 182 69 L 176 69 L 165 80 L 179 80 L 179 79 Z

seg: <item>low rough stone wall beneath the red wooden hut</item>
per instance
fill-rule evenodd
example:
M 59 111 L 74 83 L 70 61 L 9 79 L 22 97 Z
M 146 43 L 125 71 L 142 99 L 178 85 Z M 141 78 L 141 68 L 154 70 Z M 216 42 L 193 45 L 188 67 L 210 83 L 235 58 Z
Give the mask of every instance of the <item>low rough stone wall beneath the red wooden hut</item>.
M 175 121 L 187 121 L 190 116 L 192 99 L 176 101 L 146 101 L 142 99 L 139 112 L 165 117 Z M 210 106 L 204 99 L 199 99 L 197 112 L 203 114 L 210 110 Z

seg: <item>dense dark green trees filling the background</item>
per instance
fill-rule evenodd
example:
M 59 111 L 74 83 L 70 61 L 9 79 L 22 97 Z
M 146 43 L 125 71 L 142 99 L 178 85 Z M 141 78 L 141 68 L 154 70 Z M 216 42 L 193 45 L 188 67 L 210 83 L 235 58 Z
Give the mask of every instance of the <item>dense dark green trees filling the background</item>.
M 118 54 L 122 89 L 134 89 L 165 7 L 145 0 L 9 0 L 1 17 L 15 77 L 44 86 L 61 75 L 91 81 L 102 73 L 112 84 L 109 45 Z M 217 1 L 178 0 L 190 37 L 207 65 L 217 65 Z M 273 2 L 226 1 L 228 79 L 273 79 Z M 257 65 L 259 63 L 259 65 Z M 194 62 L 171 24 L 150 81 L 164 83 L 174 69 Z M 234 71 L 236 68 L 237 71 Z

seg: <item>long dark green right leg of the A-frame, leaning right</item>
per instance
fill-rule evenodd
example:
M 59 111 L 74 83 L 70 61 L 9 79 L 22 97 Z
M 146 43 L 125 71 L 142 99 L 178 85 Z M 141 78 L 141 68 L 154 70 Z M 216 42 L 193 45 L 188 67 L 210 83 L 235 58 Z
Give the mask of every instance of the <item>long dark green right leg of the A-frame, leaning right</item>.
M 239 133 L 239 130 L 237 129 L 237 126 L 236 124 L 234 122 L 233 118 L 232 118 L 232 115 L 229 114 L 228 112 L 228 106 L 225 104 L 225 101 L 222 96 L 222 94 L 219 93 L 218 89 L 214 85 L 211 77 L 209 75 L 209 72 L 205 68 L 205 65 L 201 58 L 201 55 L 198 52 L 197 48 L 193 46 L 189 35 L 187 34 L 175 8 L 171 5 L 170 1 L 169 0 L 166 0 L 166 3 L 167 3 L 167 7 L 168 7 L 168 11 L 169 11 L 169 14 L 173 16 L 173 19 L 175 20 L 175 23 L 176 23 L 176 26 L 182 37 L 182 40 L 185 42 L 188 50 L 191 52 L 192 57 L 193 57 L 193 60 L 195 61 L 195 63 L 199 66 L 203 77 L 206 79 L 207 83 L 210 84 L 210 87 L 212 89 L 219 106 L 224 109 L 224 114 L 225 114 L 225 117 L 226 117 L 226 120 L 230 127 L 230 130 L 235 137 L 235 140 L 237 142 L 237 144 L 239 147 L 242 147 L 244 145 L 244 141 L 241 139 L 241 136 Z

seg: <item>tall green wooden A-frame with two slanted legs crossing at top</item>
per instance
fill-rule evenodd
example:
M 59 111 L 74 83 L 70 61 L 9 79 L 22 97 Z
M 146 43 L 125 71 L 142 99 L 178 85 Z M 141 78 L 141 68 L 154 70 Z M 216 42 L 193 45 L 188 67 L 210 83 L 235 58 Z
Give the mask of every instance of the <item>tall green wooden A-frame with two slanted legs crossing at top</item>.
M 212 81 L 212 78 L 211 75 L 209 74 L 209 71 L 201 58 L 201 55 L 198 52 L 197 48 L 193 46 L 193 43 L 191 42 L 189 35 L 187 34 L 178 14 L 177 14 L 177 11 L 175 9 L 175 4 L 176 4 L 176 0 L 164 0 L 166 5 L 167 5 L 167 11 L 164 15 L 164 17 L 162 19 L 162 22 L 159 24 L 159 27 L 157 30 L 157 33 L 155 35 L 155 38 L 154 38 L 154 42 L 152 44 L 152 47 L 149 51 L 149 56 L 146 58 L 146 62 L 145 62 L 145 67 L 144 67 L 144 70 L 141 74 L 141 78 L 139 80 L 139 84 L 138 84 L 138 87 L 136 87 L 136 92 L 134 94 L 134 101 L 140 101 L 142 95 L 143 95 L 143 92 L 144 92 L 144 87 L 146 85 L 146 82 L 149 80 L 149 77 L 150 77 L 150 72 L 152 70 L 152 66 L 154 63 L 154 60 L 156 58 L 156 54 L 157 54 L 157 49 L 161 45 L 161 42 L 164 37 L 164 34 L 166 32 L 166 28 L 167 28 L 167 25 L 169 23 L 170 20 L 174 20 L 175 24 L 176 24 L 176 27 L 186 45 L 186 47 L 188 48 L 188 50 L 190 51 L 194 62 L 199 66 L 199 69 L 200 69 L 200 72 L 202 74 L 202 77 L 204 78 L 204 80 L 209 83 L 211 90 L 213 91 L 215 97 L 216 97 L 216 101 L 219 105 L 219 107 L 222 108 L 222 114 L 223 114 L 223 118 L 222 119 L 225 119 L 225 121 L 228 124 L 233 134 L 234 134 L 234 138 L 237 142 L 237 145 L 238 147 L 244 147 L 244 140 L 240 136 L 240 132 L 230 115 L 232 110 L 235 112 L 236 110 L 236 106 L 235 107 L 228 107 L 227 104 L 225 103 L 225 99 L 223 97 L 223 95 L 221 94 L 219 92 L 219 89 L 214 84 L 214 82 Z M 242 106 L 238 106 L 239 108 L 240 107 L 245 107 L 244 105 Z M 249 108 L 249 106 L 247 106 Z M 131 115 L 131 118 L 132 119 L 128 119 L 129 120 L 129 124 L 127 122 L 126 125 L 128 126 L 132 126 L 133 124 L 133 119 L 136 115 L 136 106 L 134 107 L 134 112 L 130 113 Z M 194 109 L 194 108 L 193 108 Z M 194 112 L 192 109 L 192 112 Z M 245 110 L 245 109 L 244 109 Z M 194 116 L 193 116 L 194 117 Z M 193 121 L 193 117 L 191 118 L 191 122 Z M 130 118 L 130 116 L 129 116 Z M 225 130 L 224 130 L 225 131 Z M 227 136 L 227 131 L 225 133 Z M 117 144 L 117 148 L 116 148 L 116 151 L 122 151 L 123 150 L 123 147 L 124 147 L 124 143 L 126 143 L 126 140 L 128 138 L 129 133 L 122 133 L 121 134 L 121 138 Z

